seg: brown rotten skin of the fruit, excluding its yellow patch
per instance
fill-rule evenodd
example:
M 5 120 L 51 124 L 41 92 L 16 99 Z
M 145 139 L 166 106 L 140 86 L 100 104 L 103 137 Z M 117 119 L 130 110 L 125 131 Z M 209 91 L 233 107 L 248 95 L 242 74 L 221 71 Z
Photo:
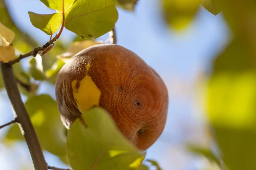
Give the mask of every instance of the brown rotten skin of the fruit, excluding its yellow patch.
M 123 135 L 140 150 L 154 144 L 165 127 L 169 103 L 166 85 L 156 71 L 119 45 L 94 45 L 74 55 L 61 68 L 55 85 L 67 128 L 81 115 L 77 102 L 83 105 L 74 99 L 72 82 L 79 88 L 86 75 L 101 92 L 99 106 L 111 114 Z

